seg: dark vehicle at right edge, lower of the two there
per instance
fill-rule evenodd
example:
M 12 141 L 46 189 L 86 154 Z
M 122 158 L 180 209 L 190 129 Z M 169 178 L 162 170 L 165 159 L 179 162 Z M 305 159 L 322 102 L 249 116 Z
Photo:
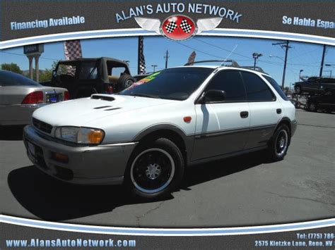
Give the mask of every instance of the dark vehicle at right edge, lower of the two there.
M 316 112 L 318 110 L 329 113 L 335 111 L 335 89 L 320 96 L 310 96 L 307 99 L 307 111 Z

